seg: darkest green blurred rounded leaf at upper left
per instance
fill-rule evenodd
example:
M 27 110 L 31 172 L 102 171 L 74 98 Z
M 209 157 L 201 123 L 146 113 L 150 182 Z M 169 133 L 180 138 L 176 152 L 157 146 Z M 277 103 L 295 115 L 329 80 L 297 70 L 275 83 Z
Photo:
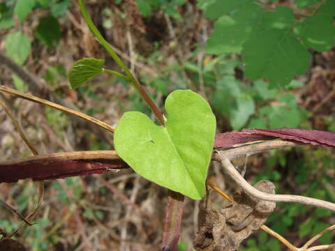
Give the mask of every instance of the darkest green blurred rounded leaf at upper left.
M 43 45 L 50 49 L 54 49 L 55 44 L 61 38 L 61 31 L 59 29 L 59 22 L 57 18 L 52 16 L 41 17 L 38 20 L 38 26 L 34 31 L 34 35 L 40 40 Z

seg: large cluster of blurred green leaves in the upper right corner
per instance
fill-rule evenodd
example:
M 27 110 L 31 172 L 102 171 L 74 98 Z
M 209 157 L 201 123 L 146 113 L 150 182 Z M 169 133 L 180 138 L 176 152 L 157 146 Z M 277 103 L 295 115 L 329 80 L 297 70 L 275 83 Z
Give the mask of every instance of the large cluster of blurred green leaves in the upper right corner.
M 335 45 L 332 0 L 295 1 L 294 8 L 255 0 L 198 0 L 198 6 L 216 20 L 207 52 L 241 54 L 246 77 L 268 79 L 272 88 L 305 73 L 308 48 L 325 52 Z

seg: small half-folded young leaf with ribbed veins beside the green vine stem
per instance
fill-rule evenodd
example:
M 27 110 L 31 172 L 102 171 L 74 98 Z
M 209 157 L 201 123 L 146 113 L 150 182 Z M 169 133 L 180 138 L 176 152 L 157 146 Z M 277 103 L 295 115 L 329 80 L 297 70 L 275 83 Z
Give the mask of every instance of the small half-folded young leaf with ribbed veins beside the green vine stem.
M 103 71 L 103 59 L 84 58 L 73 64 L 68 73 L 71 89 L 76 89 Z

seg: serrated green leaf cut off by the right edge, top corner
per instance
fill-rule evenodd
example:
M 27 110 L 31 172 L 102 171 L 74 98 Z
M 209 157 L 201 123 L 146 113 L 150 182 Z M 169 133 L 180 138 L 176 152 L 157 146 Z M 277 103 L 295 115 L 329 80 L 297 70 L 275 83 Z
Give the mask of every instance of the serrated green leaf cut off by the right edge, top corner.
M 317 15 L 307 17 L 295 27 L 306 47 L 318 52 L 325 52 L 335 45 L 335 2 L 325 3 Z M 320 29 L 322 27 L 322 29 Z

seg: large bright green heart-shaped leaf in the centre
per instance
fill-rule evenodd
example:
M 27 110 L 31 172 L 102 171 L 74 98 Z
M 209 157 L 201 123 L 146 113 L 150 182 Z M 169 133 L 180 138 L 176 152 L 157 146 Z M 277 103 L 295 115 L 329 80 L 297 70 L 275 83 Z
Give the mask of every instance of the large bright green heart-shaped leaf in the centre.
M 173 91 L 165 109 L 165 127 L 141 112 L 126 112 L 114 132 L 115 149 L 144 178 L 201 199 L 214 144 L 215 116 L 207 101 L 190 90 Z

